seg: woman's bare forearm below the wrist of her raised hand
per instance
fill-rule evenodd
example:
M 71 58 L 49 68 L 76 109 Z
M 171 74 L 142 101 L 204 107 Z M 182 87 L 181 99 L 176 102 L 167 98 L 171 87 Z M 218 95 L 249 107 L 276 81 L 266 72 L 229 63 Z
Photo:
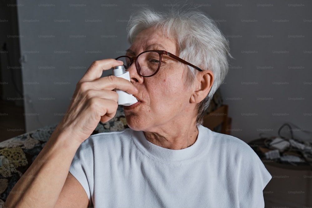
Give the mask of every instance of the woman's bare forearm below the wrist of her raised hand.
M 56 130 L 57 131 L 57 130 Z M 54 132 L 32 165 L 13 187 L 5 207 L 54 207 L 79 143 Z

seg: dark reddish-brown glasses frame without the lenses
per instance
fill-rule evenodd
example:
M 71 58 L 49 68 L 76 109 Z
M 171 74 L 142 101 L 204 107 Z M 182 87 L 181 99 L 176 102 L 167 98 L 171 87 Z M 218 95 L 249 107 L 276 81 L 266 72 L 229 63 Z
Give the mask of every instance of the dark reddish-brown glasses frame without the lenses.
M 141 75 L 141 74 L 139 73 L 139 70 L 138 70 L 138 57 L 139 57 L 141 54 L 145 53 L 145 52 L 157 52 L 157 53 L 159 54 L 159 64 L 158 64 L 158 68 L 157 68 L 157 70 L 155 71 L 154 74 L 149 75 L 149 76 L 143 76 L 143 75 Z M 186 60 L 183 60 L 183 59 L 179 58 L 178 56 L 173 55 L 172 53 L 169 53 L 168 51 L 159 51 L 159 50 L 143 51 L 142 53 L 140 53 L 138 56 L 135 56 L 135 57 L 119 56 L 119 57 L 115 58 L 115 60 L 118 60 L 119 58 L 127 57 L 127 58 L 130 59 L 129 67 L 130 67 L 130 65 L 133 63 L 133 61 L 136 60 L 136 62 L 135 62 L 135 68 L 136 68 L 138 74 L 139 74 L 140 76 L 143 76 L 143 77 L 151 77 L 151 76 L 154 76 L 155 74 L 157 74 L 157 72 L 158 72 L 158 70 L 159 70 L 159 68 L 160 68 L 161 59 L 162 59 L 163 55 L 167 55 L 167 56 L 169 56 L 169 57 L 171 57 L 171 58 L 173 58 L 173 59 L 175 59 L 175 60 L 178 60 L 178 61 L 182 62 L 183 64 L 192 66 L 193 68 L 197 69 L 198 71 L 202 71 L 199 67 L 197 67 L 197 66 L 195 66 L 195 65 L 193 65 L 193 64 L 191 64 L 191 63 L 189 63 L 189 62 L 187 62 Z M 127 67 L 127 66 L 125 66 L 125 68 L 126 68 L 126 67 Z M 129 68 L 129 67 L 128 67 L 128 68 Z

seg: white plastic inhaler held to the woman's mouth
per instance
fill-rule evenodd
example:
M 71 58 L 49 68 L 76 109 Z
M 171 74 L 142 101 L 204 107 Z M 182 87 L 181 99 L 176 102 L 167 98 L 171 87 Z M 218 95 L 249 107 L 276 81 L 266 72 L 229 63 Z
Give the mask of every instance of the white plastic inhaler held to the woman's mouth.
M 124 65 L 113 67 L 112 72 L 114 76 L 130 81 L 129 71 L 124 70 Z M 138 102 L 132 94 L 126 93 L 119 89 L 114 89 L 114 91 L 118 94 L 118 105 L 129 106 Z

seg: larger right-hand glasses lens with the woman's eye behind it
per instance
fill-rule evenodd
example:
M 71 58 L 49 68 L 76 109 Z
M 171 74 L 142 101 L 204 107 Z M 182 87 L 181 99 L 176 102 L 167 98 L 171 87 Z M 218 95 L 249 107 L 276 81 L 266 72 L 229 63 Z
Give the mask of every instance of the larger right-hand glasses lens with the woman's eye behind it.
M 137 68 L 141 76 L 153 75 L 159 67 L 159 53 L 145 52 L 142 53 L 137 59 Z

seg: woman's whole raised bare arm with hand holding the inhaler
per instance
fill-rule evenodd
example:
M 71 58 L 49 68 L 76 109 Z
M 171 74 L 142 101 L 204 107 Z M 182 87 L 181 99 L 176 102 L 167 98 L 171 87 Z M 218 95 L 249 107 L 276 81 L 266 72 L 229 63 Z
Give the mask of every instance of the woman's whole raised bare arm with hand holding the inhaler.
M 63 195 L 68 195 L 68 203 L 74 207 L 79 207 L 80 200 L 89 201 L 87 195 L 81 193 L 82 186 L 78 186 L 79 182 L 68 171 L 78 147 L 90 136 L 99 121 L 107 122 L 115 116 L 118 94 L 112 90 L 137 93 L 128 80 L 115 76 L 100 78 L 103 70 L 117 65 L 122 63 L 115 59 L 92 63 L 78 82 L 64 118 L 32 165 L 17 181 L 4 207 L 54 207 L 61 191 L 62 197 L 65 197 L 62 198 L 63 202 L 66 199 Z M 69 191 L 71 188 L 80 188 L 80 194 L 72 195 Z

